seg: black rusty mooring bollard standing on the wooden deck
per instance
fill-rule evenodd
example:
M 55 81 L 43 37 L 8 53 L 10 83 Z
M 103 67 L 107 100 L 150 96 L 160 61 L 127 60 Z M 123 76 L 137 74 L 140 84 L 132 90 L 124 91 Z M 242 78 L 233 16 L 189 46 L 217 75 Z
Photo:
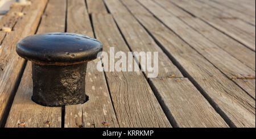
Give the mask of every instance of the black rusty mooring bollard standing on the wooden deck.
M 16 46 L 20 57 L 32 61 L 32 100 L 43 106 L 81 104 L 88 61 L 97 58 L 102 44 L 75 33 L 44 33 L 25 37 Z

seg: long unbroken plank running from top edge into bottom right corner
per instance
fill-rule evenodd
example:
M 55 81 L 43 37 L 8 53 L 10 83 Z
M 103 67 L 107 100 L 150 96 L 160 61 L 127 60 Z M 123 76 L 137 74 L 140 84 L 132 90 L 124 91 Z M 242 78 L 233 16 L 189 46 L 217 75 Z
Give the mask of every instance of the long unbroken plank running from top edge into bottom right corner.
M 200 55 L 196 54 L 193 49 L 188 49 L 189 47 L 187 45 L 185 45 L 184 43 L 180 44 L 178 41 L 180 39 L 178 39 L 177 36 L 175 37 L 175 35 L 172 32 L 168 31 L 168 29 L 166 29 L 166 27 L 162 26 L 160 24 L 160 22 L 154 18 L 154 16 L 152 16 L 150 13 L 148 13 L 148 11 L 144 10 L 144 8 L 141 7 L 140 5 L 138 5 L 137 2 L 135 2 L 135 1 L 122 1 L 122 2 L 124 2 L 125 5 L 127 6 L 127 8 L 129 8 L 129 10 L 131 12 L 133 12 L 133 15 L 143 24 L 143 26 L 146 27 L 148 31 L 150 31 L 152 36 L 154 36 L 156 38 L 156 40 L 158 40 L 159 43 L 162 44 L 162 46 L 164 46 L 164 48 L 163 47 L 162 48 L 165 49 L 165 52 L 167 52 L 168 56 L 174 57 L 176 59 L 176 61 L 178 62 L 177 65 L 179 65 L 179 68 L 183 69 L 185 71 L 185 73 L 186 73 L 186 75 L 188 75 L 189 79 L 191 79 L 191 81 L 194 83 L 194 85 L 200 91 L 202 91 L 204 96 L 208 99 L 208 101 L 212 104 L 212 106 L 214 106 L 214 108 L 216 108 L 216 110 L 222 115 L 222 117 L 224 117 L 225 120 L 232 126 L 235 126 L 235 127 L 236 126 L 238 126 L 238 127 L 245 126 L 244 123 L 246 123 L 247 118 L 244 119 L 243 116 L 241 114 L 236 113 L 236 110 L 235 110 L 237 108 L 239 108 L 239 109 L 243 108 L 243 106 L 240 106 L 240 103 L 236 103 L 236 107 L 233 107 L 233 106 L 230 106 L 229 103 L 231 104 L 231 103 L 234 103 L 234 101 L 237 101 L 237 99 L 234 98 L 234 96 L 236 96 L 236 97 L 238 96 L 239 98 L 243 99 L 243 101 L 245 101 L 245 102 L 247 100 L 249 100 L 249 102 L 250 101 L 252 102 L 251 104 L 254 104 L 254 100 L 250 100 L 250 98 L 248 98 L 249 96 L 248 97 L 244 96 L 243 93 L 245 93 L 245 92 L 243 92 L 238 86 L 234 85 L 234 83 L 232 81 L 223 77 L 222 73 L 220 73 L 220 71 L 216 70 L 216 68 L 214 68 L 212 66 L 212 64 L 209 64 L 208 61 L 205 61 L 204 58 L 201 58 L 201 59 L 197 58 L 197 57 L 200 57 Z M 123 12 L 123 11 L 119 10 L 118 12 Z M 155 27 L 159 27 L 159 29 L 155 28 Z M 168 39 L 164 39 L 166 36 L 169 36 Z M 175 39 L 170 40 L 170 38 L 175 38 Z M 172 54 L 168 53 L 168 52 L 173 52 L 173 49 L 174 49 L 174 48 L 171 48 L 170 45 L 172 45 L 172 47 L 174 47 L 174 48 L 176 48 L 175 46 L 184 46 L 184 47 L 180 47 L 179 51 L 177 51 L 177 52 L 182 52 L 183 54 L 179 55 L 179 53 L 177 53 L 177 52 L 172 53 Z M 196 54 L 196 55 L 193 56 L 193 54 Z M 184 58 L 182 58 L 182 57 L 184 57 Z M 187 58 L 185 58 L 185 57 L 187 57 Z M 194 59 L 194 60 L 192 60 L 192 59 Z M 186 61 L 188 61 L 188 62 L 186 62 Z M 200 71 L 197 71 L 197 70 L 199 70 L 199 68 L 195 67 L 195 64 L 202 65 L 200 67 L 203 69 L 201 69 Z M 205 69 L 205 68 L 207 68 L 207 69 Z M 195 70 L 193 70 L 193 69 L 195 69 Z M 199 77 L 196 77 L 195 75 L 202 75 L 202 77 L 199 78 Z M 212 76 L 212 75 L 216 75 L 218 78 L 207 77 L 207 76 Z M 209 83 L 209 82 L 212 82 L 212 83 Z M 225 86 L 219 84 L 219 82 L 222 84 L 225 84 Z M 205 83 L 207 83 L 207 84 L 205 84 Z M 230 85 L 232 85 L 232 86 L 230 86 Z M 214 91 L 211 91 L 211 89 L 214 89 Z M 230 92 L 230 90 L 233 90 L 233 92 Z M 237 90 L 240 90 L 240 91 L 237 91 Z M 209 94 L 209 92 L 211 92 L 211 93 Z M 213 92 L 213 94 L 212 94 L 212 92 Z M 220 96 L 218 96 L 214 92 L 221 93 L 222 95 L 225 95 L 228 97 L 225 97 L 226 100 L 222 101 L 222 100 L 220 100 Z M 225 94 L 224 92 L 229 92 L 231 94 Z M 243 93 L 241 94 L 241 92 L 243 92 Z M 218 107 L 216 107 L 216 106 L 218 106 Z M 229 108 L 225 108 L 227 106 Z M 255 108 L 252 108 L 252 111 L 253 111 L 253 109 L 255 109 Z M 246 109 L 244 109 L 244 110 L 246 110 Z M 229 114 L 226 115 L 227 114 L 226 112 L 228 112 Z M 234 113 L 236 113 L 236 114 L 234 114 Z M 247 113 L 247 116 L 251 115 L 250 112 L 246 112 L 246 113 Z M 241 116 L 240 118 L 243 119 L 243 121 L 242 121 L 243 123 L 241 123 L 240 120 L 237 121 L 236 118 L 233 116 L 235 116 L 235 117 Z M 255 120 L 255 114 L 252 115 L 251 119 Z M 251 122 L 247 123 L 247 126 L 249 126 L 249 127 L 255 126 L 255 125 L 250 125 L 250 123 Z M 254 122 L 252 122 L 252 123 L 254 123 Z

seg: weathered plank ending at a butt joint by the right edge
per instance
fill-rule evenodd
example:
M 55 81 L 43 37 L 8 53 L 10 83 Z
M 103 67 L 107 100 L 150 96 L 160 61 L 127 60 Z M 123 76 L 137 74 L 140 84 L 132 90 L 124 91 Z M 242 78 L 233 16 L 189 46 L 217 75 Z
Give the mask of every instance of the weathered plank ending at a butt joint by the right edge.
M 216 44 L 209 41 L 188 24 L 162 9 L 153 1 L 139 0 L 148 10 L 159 18 L 166 26 L 170 27 L 184 41 L 197 50 L 202 56 L 212 62 L 218 69 L 226 74 L 230 79 L 233 78 L 255 78 L 255 71 L 247 67 L 242 62 L 225 52 Z M 186 19 L 186 18 L 185 18 Z

